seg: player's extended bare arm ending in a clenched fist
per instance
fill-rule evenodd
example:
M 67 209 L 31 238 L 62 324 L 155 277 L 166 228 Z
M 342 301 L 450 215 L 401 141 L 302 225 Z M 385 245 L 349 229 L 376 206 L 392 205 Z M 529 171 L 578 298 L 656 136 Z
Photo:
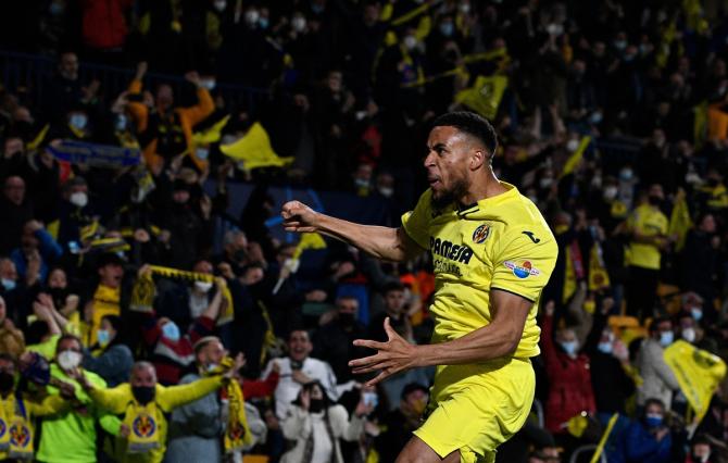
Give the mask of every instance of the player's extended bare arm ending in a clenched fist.
M 423 251 L 402 228 L 355 224 L 316 212 L 299 201 L 285 203 L 280 215 L 286 232 L 318 232 L 378 259 L 400 262 Z

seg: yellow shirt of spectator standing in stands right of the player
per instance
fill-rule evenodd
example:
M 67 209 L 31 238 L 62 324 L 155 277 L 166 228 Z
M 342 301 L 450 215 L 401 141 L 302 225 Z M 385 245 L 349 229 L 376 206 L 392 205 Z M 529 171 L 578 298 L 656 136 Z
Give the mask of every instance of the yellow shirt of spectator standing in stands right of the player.
M 656 236 L 667 234 L 667 217 L 660 210 L 649 204 L 642 204 L 627 221 L 629 229 L 637 230 L 640 235 Z M 632 241 L 629 243 L 629 264 L 651 270 L 660 270 L 660 248 L 647 242 Z

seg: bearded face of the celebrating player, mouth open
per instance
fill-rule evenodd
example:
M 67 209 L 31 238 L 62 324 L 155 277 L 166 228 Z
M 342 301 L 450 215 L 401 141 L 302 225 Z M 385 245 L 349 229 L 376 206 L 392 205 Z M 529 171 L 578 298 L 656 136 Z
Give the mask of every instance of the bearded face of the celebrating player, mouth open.
M 469 187 L 470 143 L 455 127 L 435 127 L 427 139 L 427 182 L 439 205 L 459 200 Z

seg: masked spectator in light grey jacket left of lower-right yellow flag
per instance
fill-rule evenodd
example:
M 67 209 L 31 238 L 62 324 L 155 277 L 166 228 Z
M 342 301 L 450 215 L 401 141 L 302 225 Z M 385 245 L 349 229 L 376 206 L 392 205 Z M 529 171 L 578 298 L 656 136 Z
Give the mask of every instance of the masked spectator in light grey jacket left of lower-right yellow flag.
M 673 403 L 673 392 L 680 385 L 665 363 L 664 352 L 674 340 L 673 322 L 665 317 L 654 318 L 650 324 L 650 337 L 642 341 L 637 353 L 637 368 L 643 380 L 637 388 L 638 405 L 647 405 L 651 398 L 665 404 Z

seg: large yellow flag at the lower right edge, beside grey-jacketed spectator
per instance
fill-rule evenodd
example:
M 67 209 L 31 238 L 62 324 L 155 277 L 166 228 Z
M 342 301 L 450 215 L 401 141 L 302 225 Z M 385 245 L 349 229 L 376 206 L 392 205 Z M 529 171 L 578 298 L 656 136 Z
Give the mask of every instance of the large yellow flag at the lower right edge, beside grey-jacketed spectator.
M 680 390 L 695 411 L 695 423 L 707 412 L 716 387 L 726 376 L 726 364 L 719 356 L 678 340 L 665 349 L 665 363 L 670 367 Z

